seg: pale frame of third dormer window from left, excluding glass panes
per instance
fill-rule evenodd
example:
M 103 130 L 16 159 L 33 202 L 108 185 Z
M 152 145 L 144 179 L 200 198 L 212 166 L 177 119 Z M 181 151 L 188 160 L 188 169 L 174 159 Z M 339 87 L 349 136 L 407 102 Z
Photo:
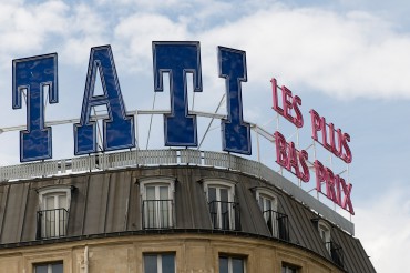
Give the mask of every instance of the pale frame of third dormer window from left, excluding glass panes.
M 222 218 L 222 204 L 221 201 L 221 189 L 226 189 L 227 190 L 227 195 L 228 195 L 228 203 L 235 203 L 235 188 L 236 183 L 226 179 L 203 179 L 203 186 L 204 186 L 204 193 L 206 198 L 206 202 L 208 204 L 209 209 L 209 188 L 215 188 L 216 190 L 216 196 L 219 198 L 219 200 L 216 198 L 217 208 L 216 208 L 216 215 L 217 215 L 217 226 L 215 228 L 215 223 L 212 221 L 211 216 L 211 211 L 209 211 L 209 216 L 211 216 L 211 222 L 213 224 L 213 229 L 218 229 L 218 230 L 224 230 L 223 228 L 223 218 Z M 235 211 L 228 206 L 228 219 L 232 220 L 229 221 L 229 226 L 228 230 L 235 230 L 236 228 L 236 216 L 235 216 Z

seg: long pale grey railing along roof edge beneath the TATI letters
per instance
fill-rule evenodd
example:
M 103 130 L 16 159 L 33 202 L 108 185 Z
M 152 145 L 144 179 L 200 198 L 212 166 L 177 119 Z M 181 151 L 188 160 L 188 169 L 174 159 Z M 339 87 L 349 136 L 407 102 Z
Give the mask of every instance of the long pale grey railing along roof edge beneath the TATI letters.
M 278 179 L 279 174 L 260 162 L 228 153 L 199 151 L 196 149 L 131 150 L 115 153 L 98 153 L 73 159 L 0 166 L 0 181 L 104 171 L 126 166 L 181 164 L 229 169 L 263 178 L 319 212 L 324 218 L 336 223 L 341 229 L 355 234 L 355 226 L 349 220 L 332 211 L 308 192 L 289 181 Z

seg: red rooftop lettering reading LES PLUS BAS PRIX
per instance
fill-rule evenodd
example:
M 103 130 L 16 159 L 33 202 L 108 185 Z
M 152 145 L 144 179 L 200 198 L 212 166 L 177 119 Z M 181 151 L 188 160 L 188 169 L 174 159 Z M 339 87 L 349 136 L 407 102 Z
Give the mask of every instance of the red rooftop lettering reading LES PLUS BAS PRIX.
M 285 85 L 281 87 L 281 95 L 278 93 L 276 79 L 271 80 L 274 105 L 273 109 L 293 123 L 296 128 L 304 127 L 304 115 L 299 109 L 301 99 L 293 95 L 291 91 Z M 281 100 L 279 100 L 281 98 Z M 351 163 L 352 154 L 349 148 L 350 135 L 344 133 L 341 129 L 335 129 L 334 123 L 326 123 L 325 117 L 320 117 L 315 110 L 310 110 L 311 138 L 321 144 L 330 153 Z M 319 135 L 321 138 L 319 138 Z M 305 150 L 298 151 L 294 142 L 287 142 L 285 136 L 275 132 L 276 162 L 287 171 L 294 173 L 304 182 L 309 182 L 310 171 L 308 166 L 308 153 Z M 349 213 L 355 214 L 353 205 L 350 200 L 352 185 L 347 183 L 340 175 L 335 174 L 330 168 L 325 166 L 319 160 L 315 160 L 314 170 L 316 173 L 316 190 L 326 192 L 326 196 L 335 204 L 338 204 Z M 322 184 L 325 183 L 325 190 Z

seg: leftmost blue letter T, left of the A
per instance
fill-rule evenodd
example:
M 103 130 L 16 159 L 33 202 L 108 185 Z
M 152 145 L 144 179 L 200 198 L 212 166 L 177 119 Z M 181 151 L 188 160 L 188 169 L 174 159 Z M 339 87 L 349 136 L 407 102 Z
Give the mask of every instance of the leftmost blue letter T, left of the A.
M 13 60 L 12 107 L 21 109 L 27 91 L 27 130 L 20 131 L 20 161 L 51 159 L 51 128 L 44 128 L 44 88 L 49 102 L 58 103 L 57 53 Z

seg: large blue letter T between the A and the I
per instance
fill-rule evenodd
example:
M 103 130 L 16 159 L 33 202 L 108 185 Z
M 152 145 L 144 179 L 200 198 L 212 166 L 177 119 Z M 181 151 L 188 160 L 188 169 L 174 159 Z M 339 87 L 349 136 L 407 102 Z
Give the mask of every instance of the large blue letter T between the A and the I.
M 194 91 L 202 92 L 199 42 L 153 42 L 155 92 L 163 91 L 170 74 L 171 114 L 164 115 L 165 145 L 196 146 L 196 117 L 188 114 L 186 74 L 193 73 Z

